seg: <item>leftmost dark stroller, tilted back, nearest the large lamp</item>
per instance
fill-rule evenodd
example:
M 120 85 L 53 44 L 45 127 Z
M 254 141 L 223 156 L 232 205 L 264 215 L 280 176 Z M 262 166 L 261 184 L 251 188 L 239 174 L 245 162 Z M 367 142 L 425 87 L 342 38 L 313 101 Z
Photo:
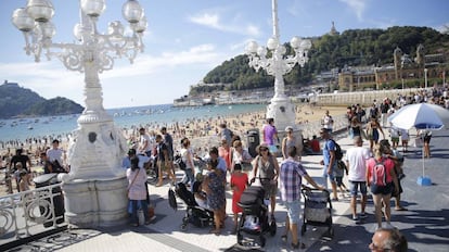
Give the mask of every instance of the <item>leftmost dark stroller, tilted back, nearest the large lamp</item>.
M 185 215 L 182 218 L 181 230 L 185 231 L 188 224 L 196 227 L 214 225 L 214 212 L 200 207 L 195 197 L 189 191 L 184 184 L 179 182 L 176 187 L 176 194 L 187 204 Z

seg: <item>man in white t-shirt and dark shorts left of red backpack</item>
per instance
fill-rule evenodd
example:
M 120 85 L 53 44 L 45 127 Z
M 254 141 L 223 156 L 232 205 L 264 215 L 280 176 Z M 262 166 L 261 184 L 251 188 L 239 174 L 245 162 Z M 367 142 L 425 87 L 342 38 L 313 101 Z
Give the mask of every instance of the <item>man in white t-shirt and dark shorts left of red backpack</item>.
M 363 141 L 360 136 L 354 137 L 355 147 L 346 151 L 344 161 L 349 169 L 348 180 L 351 194 L 350 206 L 352 210 L 352 219 L 358 224 L 360 218 L 365 218 L 364 209 L 367 206 L 367 160 L 370 159 L 371 152 L 368 148 L 363 148 Z M 361 212 L 357 216 L 357 194 L 361 193 Z

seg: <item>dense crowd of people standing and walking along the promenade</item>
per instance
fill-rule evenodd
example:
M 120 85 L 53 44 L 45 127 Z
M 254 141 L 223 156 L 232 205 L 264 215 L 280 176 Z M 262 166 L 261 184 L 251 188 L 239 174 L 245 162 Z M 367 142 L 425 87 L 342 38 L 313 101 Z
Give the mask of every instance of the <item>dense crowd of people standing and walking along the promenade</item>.
M 169 182 L 177 184 L 175 176 L 175 158 L 179 152 L 180 159 L 184 163 L 184 176 L 180 182 L 184 184 L 195 196 L 198 204 L 214 212 L 215 226 L 211 234 L 219 235 L 223 227 L 226 213 L 226 190 L 232 191 L 232 214 L 234 216 L 233 232 L 238 228 L 238 217 L 242 212 L 238 202 L 245 188 L 252 184 L 258 182 L 265 189 L 265 198 L 269 200 L 269 213 L 271 219 L 274 219 L 275 201 L 278 193 L 284 202 L 287 212 L 285 215 L 286 229 L 282 235 L 283 240 L 287 240 L 288 235 L 292 239 L 292 248 L 304 248 L 297 237 L 297 224 L 299 222 L 300 211 L 300 185 L 302 179 L 306 179 L 310 185 L 318 189 L 328 188 L 328 181 L 332 188 L 332 200 L 338 201 L 337 187 L 343 187 L 343 175 L 338 175 L 342 162 L 346 169 L 344 174 L 348 176 L 348 192 L 350 193 L 351 217 L 356 224 L 367 217 L 365 206 L 368 198 L 368 188 L 370 189 L 374 207 L 377 231 L 374 234 L 371 248 L 379 248 L 379 237 L 389 236 L 395 239 L 403 239 L 402 236 L 390 231 L 392 211 L 389 206 L 390 197 L 395 198 L 395 210 L 407 211 L 401 206 L 400 194 L 402 192 L 400 179 L 405 176 L 402 164 L 403 156 L 399 152 L 399 142 L 401 142 L 402 153 L 408 151 L 409 133 L 405 129 L 395 128 L 388 125 L 388 115 L 395 113 L 400 106 L 426 101 L 426 93 L 418 93 L 410 97 L 398 96 L 396 99 L 385 98 L 382 102 L 373 101 L 369 109 L 363 109 L 359 104 L 347 108 L 348 134 L 354 140 L 354 147 L 346 150 L 346 154 L 337 160 L 337 144 L 332 135 L 336 129 L 333 125 L 332 115 L 329 111 L 322 117 L 322 128 L 318 131 L 322 140 L 323 155 L 323 177 L 325 184 L 318 185 L 307 174 L 307 169 L 302 165 L 302 154 L 306 153 L 306 142 L 302 136 L 294 134 L 294 127 L 285 128 L 286 136 L 279 139 L 275 122 L 268 118 L 265 125 L 259 125 L 259 115 L 254 115 L 252 126 L 261 129 L 261 143 L 257 147 L 257 155 L 252 156 L 244 148 L 240 134 L 232 131 L 230 128 L 241 125 L 239 119 L 226 122 L 206 123 L 204 130 L 189 127 L 190 131 L 180 130 L 179 125 L 169 128 L 161 127 L 159 133 L 147 130 L 147 127 L 141 127 L 128 134 L 130 151 L 124 159 L 123 167 L 127 169 L 126 175 L 129 180 L 128 198 L 130 201 L 131 225 L 137 226 L 137 210 L 142 209 L 145 213 L 144 223 L 151 222 L 149 212 L 149 191 L 146 185 L 146 171 L 149 164 L 154 164 L 158 173 L 156 186 L 164 185 L 164 175 L 167 174 Z M 439 101 L 439 99 L 438 99 Z M 193 124 L 195 125 L 195 124 Z M 202 124 L 204 125 L 204 124 Z M 178 128 L 178 130 L 177 130 Z M 214 130 L 220 144 L 211 146 L 203 150 L 202 147 L 192 147 L 190 138 L 204 136 L 206 131 Z M 169 133 L 174 133 L 171 136 Z M 390 142 L 386 140 L 386 134 L 389 134 Z M 425 146 L 424 155 L 431 156 L 429 141 L 432 131 L 423 130 L 419 134 Z M 207 134 L 206 134 L 207 136 Z M 189 138 L 190 137 L 190 138 Z M 176 140 L 179 144 L 176 144 Z M 317 140 L 317 138 L 315 138 Z M 369 148 L 363 147 L 363 141 L 370 142 Z M 52 147 L 47 150 L 37 149 L 43 169 L 46 173 L 68 172 L 64 167 L 65 152 L 59 148 L 59 141 L 53 140 Z M 22 150 L 18 148 L 18 150 Z M 200 155 L 198 152 L 202 151 Z M 206 153 L 206 154 L 204 154 Z M 25 158 L 26 154 L 17 151 L 16 155 L 8 161 L 13 165 L 17 174 L 18 191 L 26 190 L 29 186 L 29 177 L 26 172 L 31 165 L 30 160 Z M 278 162 L 278 156 L 282 161 Z M 197 161 L 206 159 L 207 172 L 203 174 L 197 168 Z M 197 174 L 200 173 L 200 176 Z M 25 182 L 24 182 L 25 181 Z M 346 188 L 345 188 L 346 192 Z M 357 211 L 357 198 L 361 194 L 360 212 Z M 342 196 L 345 196 L 342 191 Z M 382 224 L 385 218 L 386 226 Z M 385 227 L 387 229 L 385 229 Z M 399 237 L 399 238 L 398 238 Z M 395 247 L 388 243 L 389 247 Z M 407 247 L 407 243 L 406 243 Z M 402 250 L 398 250 L 402 251 Z

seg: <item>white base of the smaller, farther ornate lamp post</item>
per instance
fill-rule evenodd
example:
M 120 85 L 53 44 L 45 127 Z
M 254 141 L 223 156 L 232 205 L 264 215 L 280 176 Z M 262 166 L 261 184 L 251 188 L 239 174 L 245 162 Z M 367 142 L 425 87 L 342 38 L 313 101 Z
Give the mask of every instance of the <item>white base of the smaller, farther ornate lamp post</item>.
M 273 98 L 267 106 L 267 118 L 274 118 L 274 125 L 279 130 L 286 126 L 295 126 L 295 108 L 288 98 Z

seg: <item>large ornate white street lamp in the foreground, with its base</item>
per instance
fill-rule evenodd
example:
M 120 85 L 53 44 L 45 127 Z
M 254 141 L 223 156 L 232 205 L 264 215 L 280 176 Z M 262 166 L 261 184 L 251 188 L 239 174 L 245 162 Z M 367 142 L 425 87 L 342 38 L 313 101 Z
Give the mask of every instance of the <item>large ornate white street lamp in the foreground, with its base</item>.
M 64 181 L 66 217 L 76 226 L 111 226 L 126 219 L 127 179 L 120 167 L 127 146 L 120 130 L 103 108 L 99 74 L 112 70 L 117 58 L 132 63 L 143 51 L 146 29 L 143 9 L 136 0 L 123 5 L 128 29 L 118 22 L 108 24 L 107 33 L 97 29 L 97 21 L 105 10 L 105 0 L 80 0 L 80 23 L 74 27 L 75 42 L 53 42 L 51 0 L 28 0 L 14 11 L 12 23 L 25 36 L 25 52 L 39 62 L 59 59 L 67 70 L 85 74 L 86 109 L 78 118 L 68 148 L 70 172 Z

